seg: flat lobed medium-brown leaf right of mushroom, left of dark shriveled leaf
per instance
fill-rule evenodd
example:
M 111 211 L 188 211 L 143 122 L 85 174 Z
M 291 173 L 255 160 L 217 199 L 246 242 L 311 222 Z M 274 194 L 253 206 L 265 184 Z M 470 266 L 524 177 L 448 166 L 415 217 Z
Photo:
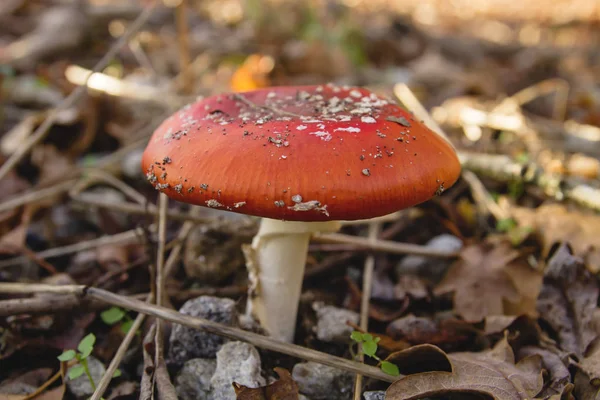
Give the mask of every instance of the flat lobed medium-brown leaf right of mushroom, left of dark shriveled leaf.
M 467 321 L 490 315 L 535 315 L 542 274 L 504 239 L 465 247 L 434 289 L 454 293 L 454 310 Z

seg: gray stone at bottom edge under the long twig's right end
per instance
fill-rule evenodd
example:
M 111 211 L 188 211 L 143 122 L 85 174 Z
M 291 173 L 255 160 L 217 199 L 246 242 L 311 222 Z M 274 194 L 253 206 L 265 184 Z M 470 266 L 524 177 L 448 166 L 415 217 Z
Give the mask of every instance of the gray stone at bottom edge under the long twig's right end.
M 346 371 L 315 362 L 294 365 L 292 378 L 300 392 L 313 400 L 349 400 L 354 376 Z

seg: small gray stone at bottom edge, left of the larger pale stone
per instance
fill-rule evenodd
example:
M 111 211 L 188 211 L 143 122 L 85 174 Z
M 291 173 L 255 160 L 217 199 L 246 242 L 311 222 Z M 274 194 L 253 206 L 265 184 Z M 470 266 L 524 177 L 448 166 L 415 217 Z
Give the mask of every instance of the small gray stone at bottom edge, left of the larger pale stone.
M 177 397 L 183 400 L 210 400 L 210 379 L 217 362 L 213 359 L 194 358 L 186 361 L 175 378 Z

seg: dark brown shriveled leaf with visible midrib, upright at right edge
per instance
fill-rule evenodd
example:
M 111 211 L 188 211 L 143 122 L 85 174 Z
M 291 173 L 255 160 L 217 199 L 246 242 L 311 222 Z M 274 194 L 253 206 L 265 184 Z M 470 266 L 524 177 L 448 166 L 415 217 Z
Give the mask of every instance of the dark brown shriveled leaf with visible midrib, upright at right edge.
M 598 283 L 583 260 L 561 245 L 548 262 L 537 309 L 556 332 L 560 347 L 580 358 L 597 337 L 593 315 L 598 295 Z

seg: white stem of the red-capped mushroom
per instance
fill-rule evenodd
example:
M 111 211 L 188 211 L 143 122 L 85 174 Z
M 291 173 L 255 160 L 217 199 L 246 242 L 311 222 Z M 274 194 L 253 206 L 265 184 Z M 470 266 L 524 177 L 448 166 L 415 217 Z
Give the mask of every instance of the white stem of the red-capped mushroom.
M 250 278 L 247 311 L 271 337 L 294 340 L 310 236 L 339 228 L 338 221 L 262 219 L 252 246 L 245 249 Z

